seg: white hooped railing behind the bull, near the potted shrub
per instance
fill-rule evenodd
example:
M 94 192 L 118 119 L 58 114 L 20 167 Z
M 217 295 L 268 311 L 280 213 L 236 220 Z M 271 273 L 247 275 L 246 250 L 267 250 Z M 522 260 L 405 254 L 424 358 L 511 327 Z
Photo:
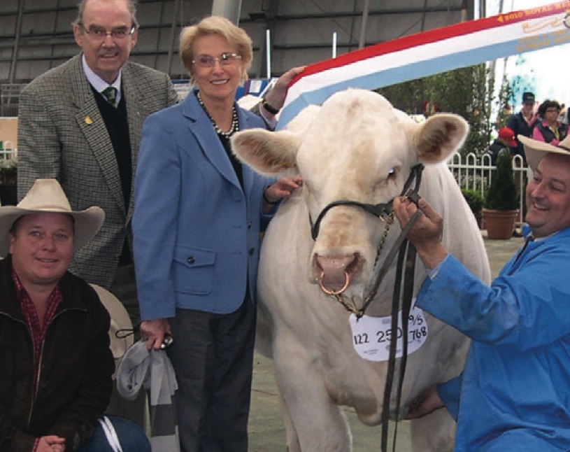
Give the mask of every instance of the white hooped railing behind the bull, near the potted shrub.
M 469 153 L 465 157 L 455 153 L 448 162 L 448 167 L 455 176 L 455 181 L 461 188 L 469 188 L 485 195 L 491 183 L 494 171 L 497 169 L 491 164 L 491 156 L 488 154 L 477 157 L 474 153 Z M 515 155 L 513 158 L 513 173 L 515 183 L 519 188 L 519 216 L 517 223 L 522 222 L 523 205 L 525 199 L 525 187 L 527 181 L 532 177 L 532 171 L 522 164 L 522 157 Z

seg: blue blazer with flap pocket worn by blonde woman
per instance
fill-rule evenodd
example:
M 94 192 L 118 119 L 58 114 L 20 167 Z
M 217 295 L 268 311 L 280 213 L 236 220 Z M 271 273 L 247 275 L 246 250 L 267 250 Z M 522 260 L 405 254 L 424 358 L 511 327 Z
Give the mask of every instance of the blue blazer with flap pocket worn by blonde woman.
M 236 108 L 238 108 L 236 106 Z M 264 127 L 238 108 L 240 129 Z M 132 219 L 141 318 L 175 308 L 230 313 L 255 299 L 262 193 L 273 181 L 243 165 L 243 185 L 208 116 L 190 93 L 145 120 Z

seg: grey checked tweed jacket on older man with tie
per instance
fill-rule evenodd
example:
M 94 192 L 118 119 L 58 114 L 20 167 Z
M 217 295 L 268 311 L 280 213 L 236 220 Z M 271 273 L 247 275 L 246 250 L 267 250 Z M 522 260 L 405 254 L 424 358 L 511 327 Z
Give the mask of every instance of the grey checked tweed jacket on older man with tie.
M 122 68 L 122 94 L 127 105 L 132 177 L 145 118 L 176 104 L 169 77 L 127 62 Z M 111 139 L 85 77 L 81 54 L 38 76 L 24 88 L 18 120 L 18 199 L 36 178 L 57 178 L 73 210 L 99 206 L 105 222 L 90 243 L 78 250 L 70 270 L 110 288 L 115 278 L 133 201 L 124 205 Z M 131 183 L 134 186 L 134 183 Z

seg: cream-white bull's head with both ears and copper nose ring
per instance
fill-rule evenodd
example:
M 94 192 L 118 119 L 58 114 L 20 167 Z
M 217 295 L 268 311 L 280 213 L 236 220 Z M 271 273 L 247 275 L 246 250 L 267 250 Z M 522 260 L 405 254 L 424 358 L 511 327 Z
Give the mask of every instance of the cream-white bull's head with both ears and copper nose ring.
M 231 139 L 231 145 L 261 174 L 300 174 L 314 222 L 340 199 L 390 202 L 401 193 L 413 167 L 446 160 L 462 146 L 468 130 L 457 115 L 434 115 L 417 124 L 379 94 L 346 90 L 321 107 L 301 111 L 287 130 L 245 130 Z M 312 250 L 311 281 L 326 292 L 345 290 L 345 295 L 362 297 L 385 227 L 358 206 L 327 210 Z

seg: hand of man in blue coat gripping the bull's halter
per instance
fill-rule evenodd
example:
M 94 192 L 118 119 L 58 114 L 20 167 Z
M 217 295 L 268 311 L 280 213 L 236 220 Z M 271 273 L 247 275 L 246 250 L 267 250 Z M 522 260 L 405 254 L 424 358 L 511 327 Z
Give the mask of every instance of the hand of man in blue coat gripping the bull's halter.
M 420 209 L 422 214 L 408 233 L 408 239 L 418 250 L 418 255 L 428 269 L 433 269 L 445 259 L 448 252 L 441 243 L 443 218 L 434 211 L 425 199 L 420 198 L 418 206 L 406 197 L 394 198 L 394 214 L 402 227 L 406 227 L 414 213 Z

